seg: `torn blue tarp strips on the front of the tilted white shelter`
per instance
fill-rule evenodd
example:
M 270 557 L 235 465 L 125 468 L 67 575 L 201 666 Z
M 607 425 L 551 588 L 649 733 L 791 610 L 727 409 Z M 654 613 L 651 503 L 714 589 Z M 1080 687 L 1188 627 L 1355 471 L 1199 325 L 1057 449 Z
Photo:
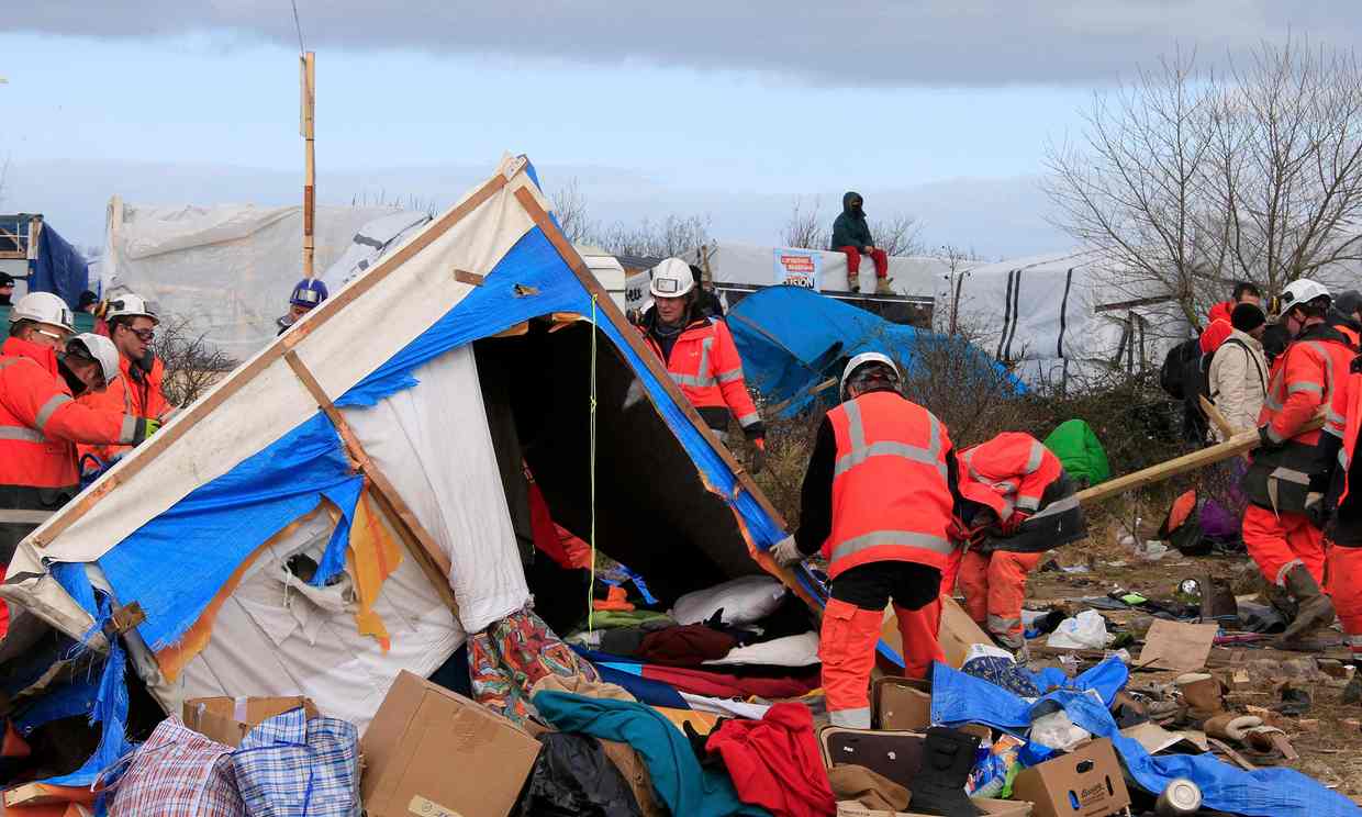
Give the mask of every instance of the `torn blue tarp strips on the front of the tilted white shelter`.
M 530 295 L 518 295 L 533 291 Z M 419 368 L 439 355 L 524 320 L 553 312 L 592 315 L 591 295 L 538 227 L 530 230 L 488 274 L 482 286 L 377 370 L 349 389 L 338 406 L 372 406 L 417 384 Z M 734 507 L 753 543 L 765 550 L 783 530 L 746 490 L 610 321 L 598 321 L 636 372 L 654 404 L 704 474 Z M 147 613 L 139 626 L 151 650 L 177 643 L 241 562 L 270 536 L 311 512 L 326 497 L 345 515 L 315 581 L 345 564 L 349 519 L 361 487 L 350 472 L 335 428 L 320 411 L 227 474 L 195 489 L 99 558 L 114 594 L 138 599 Z

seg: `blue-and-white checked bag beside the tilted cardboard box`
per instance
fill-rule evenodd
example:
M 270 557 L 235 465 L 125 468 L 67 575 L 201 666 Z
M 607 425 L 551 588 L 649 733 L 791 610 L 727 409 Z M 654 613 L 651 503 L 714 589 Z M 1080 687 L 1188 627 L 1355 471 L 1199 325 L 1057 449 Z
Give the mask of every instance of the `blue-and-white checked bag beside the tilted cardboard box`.
M 251 817 L 360 817 L 360 730 L 302 708 L 260 723 L 232 754 Z

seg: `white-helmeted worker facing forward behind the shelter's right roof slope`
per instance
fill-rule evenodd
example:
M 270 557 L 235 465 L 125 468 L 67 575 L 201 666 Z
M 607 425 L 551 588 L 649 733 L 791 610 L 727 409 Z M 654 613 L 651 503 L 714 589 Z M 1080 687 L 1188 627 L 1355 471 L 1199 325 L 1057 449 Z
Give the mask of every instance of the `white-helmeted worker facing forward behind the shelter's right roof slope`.
M 654 305 L 639 327 L 644 340 L 725 444 L 729 414 L 738 421 L 742 433 L 756 445 L 750 471 L 760 472 L 765 460 L 765 425 L 748 394 L 742 358 L 729 325 L 699 310 L 695 276 L 680 259 L 666 259 L 652 268 L 648 293 Z

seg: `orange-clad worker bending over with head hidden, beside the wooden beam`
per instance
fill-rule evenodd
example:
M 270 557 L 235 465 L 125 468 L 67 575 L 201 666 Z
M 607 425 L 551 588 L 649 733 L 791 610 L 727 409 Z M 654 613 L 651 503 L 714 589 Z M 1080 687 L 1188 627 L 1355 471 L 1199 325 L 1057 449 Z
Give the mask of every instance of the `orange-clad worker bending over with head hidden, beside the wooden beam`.
M 1026 647 L 1026 577 L 1045 551 L 1087 535 L 1073 482 L 1039 440 L 1004 432 L 959 452 L 960 494 L 978 541 L 960 560 L 964 609 L 998 644 Z

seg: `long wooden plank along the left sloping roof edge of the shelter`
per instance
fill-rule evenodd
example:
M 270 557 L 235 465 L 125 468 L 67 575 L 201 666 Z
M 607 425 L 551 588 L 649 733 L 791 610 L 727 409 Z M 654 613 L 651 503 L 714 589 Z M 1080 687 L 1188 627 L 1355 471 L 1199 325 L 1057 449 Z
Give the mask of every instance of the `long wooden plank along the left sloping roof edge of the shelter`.
M 507 181 L 508 180 L 504 173 L 497 173 L 462 204 L 429 225 L 422 233 L 413 238 L 410 244 L 376 264 L 358 281 L 340 290 L 336 295 L 323 301 L 321 305 L 309 312 L 302 321 L 275 339 L 275 342 L 260 353 L 260 355 L 233 372 L 225 381 L 222 381 L 221 385 L 215 387 L 207 395 L 191 404 L 189 408 L 184 411 L 185 417 L 183 421 L 177 418 L 177 422 L 162 429 L 157 436 L 139 445 L 136 448 L 136 455 L 128 459 L 128 462 L 120 464 L 116 474 L 105 477 L 94 490 L 80 494 L 74 502 L 63 508 L 61 513 L 52 520 L 49 527 L 42 531 L 41 535 L 35 535 L 33 538 L 34 545 L 37 547 L 45 547 L 59 535 L 65 532 L 67 528 L 75 524 L 78 519 L 89 513 L 90 509 L 99 502 L 99 500 L 109 494 L 109 492 L 136 475 L 138 471 L 159 456 L 166 448 L 170 447 L 170 444 L 188 433 L 189 429 L 222 404 L 223 400 L 241 391 L 247 383 L 255 379 L 276 359 L 283 357 L 285 351 L 297 346 L 298 342 L 308 334 L 335 317 L 335 315 L 340 312 L 346 304 L 377 286 L 379 282 L 391 275 L 394 270 L 399 268 L 414 255 L 448 233 L 456 223 L 467 218 L 470 212 L 481 207 L 484 202 L 500 192 L 501 188 L 507 185 Z

